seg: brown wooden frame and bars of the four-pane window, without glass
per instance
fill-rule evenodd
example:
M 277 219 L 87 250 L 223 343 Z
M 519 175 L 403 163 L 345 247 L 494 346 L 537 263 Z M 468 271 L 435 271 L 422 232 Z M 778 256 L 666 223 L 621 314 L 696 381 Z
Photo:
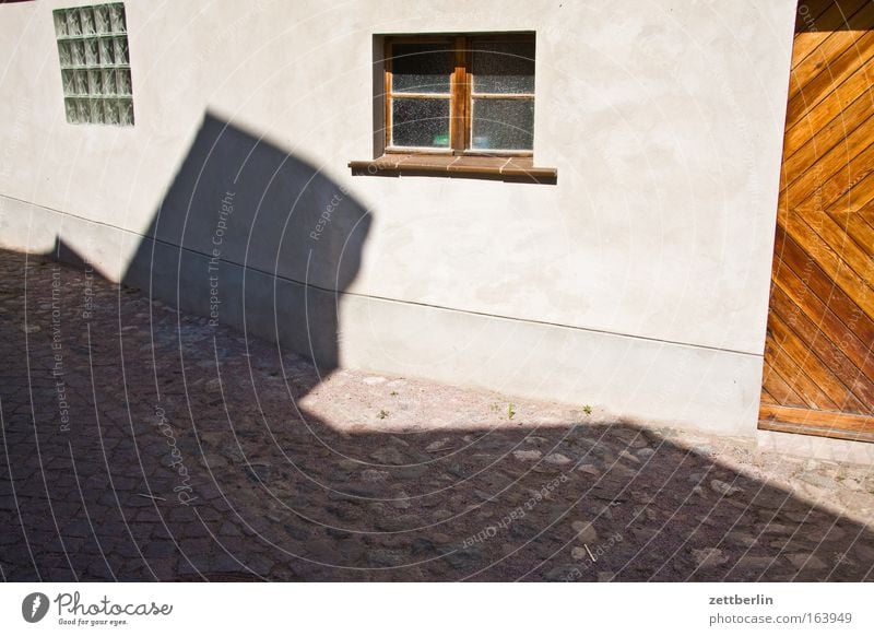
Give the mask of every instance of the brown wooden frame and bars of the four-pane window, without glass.
M 488 156 L 488 157 L 533 157 L 533 150 L 496 149 L 483 150 L 472 146 L 473 99 L 527 99 L 534 102 L 534 93 L 474 93 L 473 92 L 473 52 L 477 42 L 531 42 L 533 33 L 505 34 L 458 34 L 458 35 L 412 35 L 387 36 L 385 39 L 383 69 L 383 148 L 386 155 L 449 155 L 449 156 Z M 392 93 L 392 47 L 397 44 L 434 44 L 446 43 L 447 49 L 454 52 L 456 66 L 450 76 L 449 96 L 434 93 Z M 433 146 L 395 146 L 392 141 L 392 99 L 449 99 L 449 148 Z M 533 133 L 533 132 L 532 132 Z

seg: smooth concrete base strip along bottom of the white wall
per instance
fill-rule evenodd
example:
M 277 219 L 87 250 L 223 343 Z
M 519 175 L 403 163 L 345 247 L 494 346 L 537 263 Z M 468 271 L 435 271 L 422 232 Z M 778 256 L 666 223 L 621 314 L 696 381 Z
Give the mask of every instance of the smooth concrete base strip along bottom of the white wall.
M 591 404 L 638 424 L 754 436 L 761 356 L 335 294 L 75 215 L 0 197 L 0 246 L 87 255 L 187 311 L 336 366 Z M 215 298 L 221 303 L 215 306 Z

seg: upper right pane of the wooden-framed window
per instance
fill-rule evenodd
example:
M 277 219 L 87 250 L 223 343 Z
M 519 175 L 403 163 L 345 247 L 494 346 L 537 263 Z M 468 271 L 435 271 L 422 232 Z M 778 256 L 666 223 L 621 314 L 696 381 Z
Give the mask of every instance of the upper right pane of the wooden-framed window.
M 534 93 L 534 42 L 474 40 L 474 93 Z

